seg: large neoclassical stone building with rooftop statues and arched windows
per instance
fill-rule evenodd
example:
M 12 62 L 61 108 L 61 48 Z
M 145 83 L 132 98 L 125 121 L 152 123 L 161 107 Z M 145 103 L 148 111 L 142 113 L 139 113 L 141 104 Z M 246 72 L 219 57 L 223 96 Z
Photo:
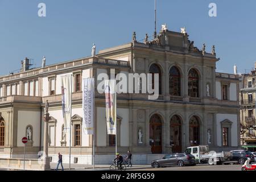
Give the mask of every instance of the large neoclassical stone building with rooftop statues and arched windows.
M 240 147 L 240 113 L 237 75 L 216 73 L 216 53 L 194 47 L 188 34 L 160 31 L 158 38 L 102 50 L 96 57 L 67 61 L 43 68 L 27 69 L 0 77 L 0 156 L 19 157 L 21 138 L 27 128 L 32 140 L 31 157 L 43 147 L 44 103 L 50 103 L 49 154 L 57 152 L 68 162 L 69 136 L 63 135 L 60 79 L 73 75 L 72 162 L 92 163 L 92 136 L 82 125 L 82 78 L 100 73 L 159 73 L 158 100 L 147 94 L 117 95 L 118 152 L 133 152 L 134 163 L 143 164 L 162 154 L 181 152 L 186 147 L 208 144 L 210 150 L 228 151 Z M 97 83 L 99 81 L 96 81 Z M 107 135 L 105 95 L 97 93 L 95 104 L 96 163 L 111 163 L 115 135 Z M 138 131 L 142 131 L 142 143 Z

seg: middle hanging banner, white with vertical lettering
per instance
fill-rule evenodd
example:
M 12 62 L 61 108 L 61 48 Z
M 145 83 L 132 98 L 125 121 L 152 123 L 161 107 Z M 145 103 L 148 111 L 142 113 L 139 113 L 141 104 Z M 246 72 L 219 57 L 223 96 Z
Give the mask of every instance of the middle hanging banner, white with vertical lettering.
M 94 78 L 82 81 L 82 129 L 87 135 L 93 135 L 94 122 Z

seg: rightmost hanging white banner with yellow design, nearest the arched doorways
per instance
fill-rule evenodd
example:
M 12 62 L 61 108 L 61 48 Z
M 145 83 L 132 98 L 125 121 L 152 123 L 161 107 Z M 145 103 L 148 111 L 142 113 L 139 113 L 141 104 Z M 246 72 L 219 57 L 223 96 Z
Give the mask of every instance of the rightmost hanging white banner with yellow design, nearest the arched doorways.
M 115 80 L 105 80 L 106 122 L 109 135 L 117 133 L 117 95 L 115 93 Z

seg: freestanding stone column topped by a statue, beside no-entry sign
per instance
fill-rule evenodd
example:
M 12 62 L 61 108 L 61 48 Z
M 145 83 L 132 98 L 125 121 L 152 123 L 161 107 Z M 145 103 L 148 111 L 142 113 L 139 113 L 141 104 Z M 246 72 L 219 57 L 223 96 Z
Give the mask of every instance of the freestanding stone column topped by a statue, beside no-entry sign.
M 49 122 L 49 113 L 48 113 L 48 109 L 46 109 L 46 113 L 44 114 L 44 156 L 43 156 L 44 170 L 51 169 L 50 159 L 48 156 L 48 144 L 49 144 L 48 122 Z

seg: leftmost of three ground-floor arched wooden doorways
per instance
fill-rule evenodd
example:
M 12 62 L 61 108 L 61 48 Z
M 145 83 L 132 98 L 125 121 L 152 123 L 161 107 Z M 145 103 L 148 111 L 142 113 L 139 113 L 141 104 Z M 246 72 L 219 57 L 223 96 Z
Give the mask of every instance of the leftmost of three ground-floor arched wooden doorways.
M 162 154 L 162 119 L 158 114 L 150 118 L 150 146 L 152 154 Z

